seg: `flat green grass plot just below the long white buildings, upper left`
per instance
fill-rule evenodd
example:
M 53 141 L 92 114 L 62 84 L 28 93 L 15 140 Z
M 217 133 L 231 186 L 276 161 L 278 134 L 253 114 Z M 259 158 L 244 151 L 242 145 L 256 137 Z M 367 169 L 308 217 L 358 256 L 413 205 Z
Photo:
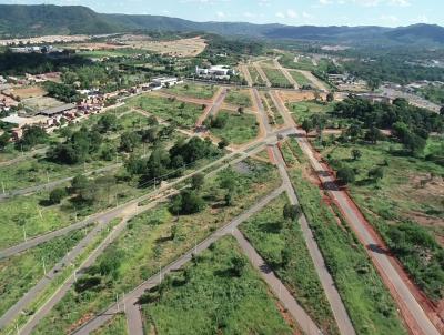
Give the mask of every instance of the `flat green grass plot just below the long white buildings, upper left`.
M 202 105 L 180 102 L 168 98 L 140 95 L 127 101 L 128 105 L 140 108 L 165 121 L 175 122 L 183 128 L 192 128 L 202 114 Z

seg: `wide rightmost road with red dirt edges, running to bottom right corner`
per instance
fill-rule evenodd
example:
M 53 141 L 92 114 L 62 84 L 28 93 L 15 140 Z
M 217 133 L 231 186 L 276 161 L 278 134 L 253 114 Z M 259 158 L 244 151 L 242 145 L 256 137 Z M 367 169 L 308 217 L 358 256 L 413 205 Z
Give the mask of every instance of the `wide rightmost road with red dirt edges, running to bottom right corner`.
M 291 120 L 291 123 L 289 124 L 293 124 L 295 126 L 295 123 L 289 115 L 289 111 L 283 102 L 280 99 L 276 100 L 276 106 L 282 110 L 283 114 L 287 115 L 286 119 Z M 400 276 L 398 272 L 391 263 L 390 257 L 386 254 L 381 253 L 377 248 L 371 247 L 379 245 L 379 243 L 373 237 L 372 232 L 369 229 L 370 224 L 365 222 L 364 216 L 360 214 L 359 210 L 353 207 L 352 201 L 349 199 L 347 194 L 343 191 L 340 191 L 337 187 L 334 187 L 334 177 L 325 173 L 324 166 L 315 158 L 312 146 L 304 136 L 304 132 L 296 130 L 296 139 L 302 151 L 307 155 L 321 181 L 329 185 L 329 189 L 331 190 L 329 192 L 343 212 L 344 219 L 353 229 L 361 243 L 363 243 L 366 247 L 366 251 L 374 261 L 376 268 L 382 272 L 382 278 L 387 285 L 392 295 L 394 295 L 394 298 L 404 316 L 404 319 L 408 324 L 410 329 L 414 334 L 438 335 L 440 332 L 436 329 L 420 303 L 416 301 L 408 285 Z

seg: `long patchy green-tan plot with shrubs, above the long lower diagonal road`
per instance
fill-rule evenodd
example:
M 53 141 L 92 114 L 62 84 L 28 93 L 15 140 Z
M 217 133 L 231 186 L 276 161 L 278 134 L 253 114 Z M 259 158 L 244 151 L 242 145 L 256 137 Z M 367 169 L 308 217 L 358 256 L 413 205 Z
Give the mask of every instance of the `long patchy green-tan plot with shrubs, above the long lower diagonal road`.
M 280 179 L 272 165 L 251 160 L 243 164 L 242 172 L 224 170 L 205 181 L 200 191 L 205 207 L 200 213 L 176 216 L 165 203 L 134 217 L 88 271 L 88 277 L 97 277 L 99 283 L 71 288 L 34 334 L 64 334 L 79 326 L 114 302 L 115 293 L 135 287 L 157 273 L 160 265 L 171 263 L 278 187 Z M 222 187 L 228 179 L 236 181 L 232 205 L 226 205 L 229 191 Z M 103 266 L 109 270 L 100 271 Z

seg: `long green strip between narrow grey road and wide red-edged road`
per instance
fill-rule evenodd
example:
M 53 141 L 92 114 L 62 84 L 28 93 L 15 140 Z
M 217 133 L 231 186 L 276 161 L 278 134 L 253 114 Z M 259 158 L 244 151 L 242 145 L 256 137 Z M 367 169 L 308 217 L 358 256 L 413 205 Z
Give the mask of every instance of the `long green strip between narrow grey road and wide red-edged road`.
M 290 170 L 292 182 L 356 333 L 407 334 L 364 247 L 326 205 L 319 186 L 309 181 L 313 179 L 310 164 L 294 139 L 291 143 L 302 161 Z

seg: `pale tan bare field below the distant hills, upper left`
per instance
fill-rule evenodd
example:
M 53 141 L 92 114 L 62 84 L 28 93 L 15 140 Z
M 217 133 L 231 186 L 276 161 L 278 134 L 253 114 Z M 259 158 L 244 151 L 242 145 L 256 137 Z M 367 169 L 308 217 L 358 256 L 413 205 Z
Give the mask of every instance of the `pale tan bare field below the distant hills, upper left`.
M 176 57 L 196 57 L 206 48 L 205 40 L 200 37 L 175 41 L 131 40 L 130 37 L 124 43 L 134 49 L 151 50 L 157 53 Z

